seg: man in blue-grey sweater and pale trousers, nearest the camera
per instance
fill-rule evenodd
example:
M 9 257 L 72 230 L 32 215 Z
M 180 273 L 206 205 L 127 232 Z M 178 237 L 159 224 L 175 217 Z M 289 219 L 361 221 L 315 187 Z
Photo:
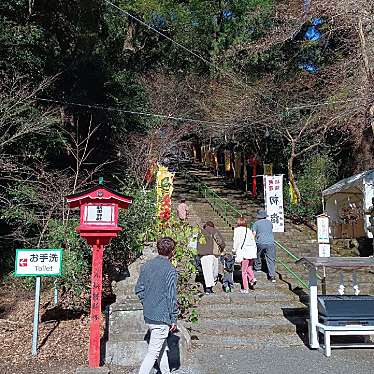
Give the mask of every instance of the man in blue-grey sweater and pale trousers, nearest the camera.
M 149 374 L 158 361 L 162 374 L 169 374 L 167 337 L 177 329 L 177 271 L 170 263 L 175 250 L 171 238 L 157 242 L 158 256 L 143 265 L 135 293 L 143 304 L 144 321 L 151 333 L 148 352 L 139 374 Z

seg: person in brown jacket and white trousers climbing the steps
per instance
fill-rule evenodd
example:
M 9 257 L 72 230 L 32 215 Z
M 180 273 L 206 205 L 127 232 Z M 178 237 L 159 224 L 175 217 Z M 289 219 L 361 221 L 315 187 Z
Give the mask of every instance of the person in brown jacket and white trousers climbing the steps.
M 214 223 L 208 221 L 201 230 L 204 236 L 203 242 L 198 240 L 197 253 L 201 256 L 203 268 L 205 293 L 213 293 L 213 286 L 218 277 L 218 256 L 224 250 L 226 244 L 221 233 L 214 227 Z

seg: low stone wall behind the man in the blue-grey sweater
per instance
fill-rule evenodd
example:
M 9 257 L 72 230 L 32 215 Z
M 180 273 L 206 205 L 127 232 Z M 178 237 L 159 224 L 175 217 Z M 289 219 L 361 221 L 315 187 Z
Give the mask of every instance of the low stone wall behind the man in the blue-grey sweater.
M 144 246 L 143 255 L 128 267 L 129 276 L 113 285 L 116 302 L 110 306 L 106 363 L 116 366 L 139 366 L 147 352 L 147 327 L 143 309 L 134 293 L 142 264 L 156 256 L 156 246 Z M 178 322 L 179 332 L 168 339 L 171 368 L 179 368 L 191 346 L 188 331 Z

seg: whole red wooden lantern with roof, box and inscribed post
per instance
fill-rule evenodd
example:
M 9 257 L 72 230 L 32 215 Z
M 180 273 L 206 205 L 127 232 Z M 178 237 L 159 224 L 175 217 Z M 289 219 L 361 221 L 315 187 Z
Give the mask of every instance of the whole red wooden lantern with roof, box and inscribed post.
M 100 365 L 100 316 L 104 246 L 122 230 L 118 226 L 118 209 L 127 208 L 132 198 L 102 185 L 66 197 L 70 208 L 80 208 L 80 225 L 76 228 L 92 247 L 91 311 L 89 367 Z

